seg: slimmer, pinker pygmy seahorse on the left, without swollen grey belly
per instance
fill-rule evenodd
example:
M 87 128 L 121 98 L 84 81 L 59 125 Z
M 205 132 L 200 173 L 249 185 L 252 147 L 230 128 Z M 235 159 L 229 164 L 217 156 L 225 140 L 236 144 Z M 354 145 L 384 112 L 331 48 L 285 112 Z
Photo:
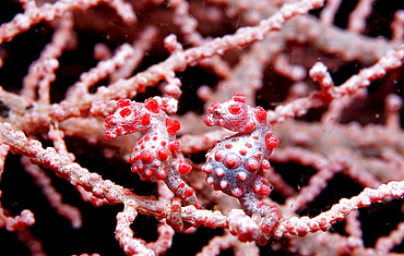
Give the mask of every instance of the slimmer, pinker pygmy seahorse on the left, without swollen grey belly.
M 179 151 L 176 132 L 180 129 L 177 120 L 169 119 L 155 99 L 144 103 L 121 99 L 117 110 L 105 119 L 107 139 L 134 132 L 144 132 L 138 139 L 129 161 L 132 171 L 142 180 L 163 180 L 167 186 L 189 205 L 198 205 L 194 190 L 181 175 L 191 171 L 192 166 Z

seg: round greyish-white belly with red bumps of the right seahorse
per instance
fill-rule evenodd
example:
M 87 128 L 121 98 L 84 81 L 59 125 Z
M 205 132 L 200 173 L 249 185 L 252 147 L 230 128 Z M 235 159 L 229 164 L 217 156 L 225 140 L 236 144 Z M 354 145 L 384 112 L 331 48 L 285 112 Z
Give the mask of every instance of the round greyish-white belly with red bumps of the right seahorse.
M 262 131 L 260 131 L 262 132 Z M 206 154 L 202 170 L 215 190 L 240 197 L 253 191 L 258 197 L 268 195 L 271 185 L 263 178 L 262 168 L 269 168 L 272 149 L 266 149 L 261 136 L 236 135 L 219 142 Z

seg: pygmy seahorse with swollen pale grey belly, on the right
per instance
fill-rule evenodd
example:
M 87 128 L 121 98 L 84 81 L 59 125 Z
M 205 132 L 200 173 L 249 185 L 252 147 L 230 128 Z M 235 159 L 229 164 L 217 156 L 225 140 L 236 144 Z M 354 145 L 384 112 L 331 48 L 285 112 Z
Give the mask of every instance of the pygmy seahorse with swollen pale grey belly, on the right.
M 266 112 L 261 107 L 246 103 L 243 95 L 234 95 L 231 100 L 212 102 L 210 114 L 203 121 L 209 126 L 222 126 L 237 132 L 225 138 L 206 154 L 202 170 L 206 182 L 215 190 L 235 196 L 249 215 L 263 217 L 259 240 L 264 243 L 273 225 L 282 218 L 276 206 L 261 199 L 272 191 L 264 169 L 270 168 L 269 158 L 280 141 L 266 122 Z

